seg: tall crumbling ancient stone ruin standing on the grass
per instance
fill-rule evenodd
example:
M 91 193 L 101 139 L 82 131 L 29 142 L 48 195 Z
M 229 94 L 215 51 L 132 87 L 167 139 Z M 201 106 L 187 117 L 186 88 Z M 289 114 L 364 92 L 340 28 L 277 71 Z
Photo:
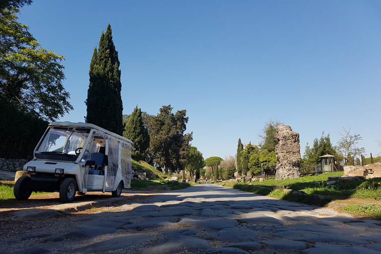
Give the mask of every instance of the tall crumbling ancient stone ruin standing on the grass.
M 275 179 L 300 177 L 299 166 L 302 158 L 299 133 L 292 131 L 291 127 L 287 125 L 281 125 L 276 127 L 275 138 L 278 140 L 278 144 L 275 146 L 277 161 Z

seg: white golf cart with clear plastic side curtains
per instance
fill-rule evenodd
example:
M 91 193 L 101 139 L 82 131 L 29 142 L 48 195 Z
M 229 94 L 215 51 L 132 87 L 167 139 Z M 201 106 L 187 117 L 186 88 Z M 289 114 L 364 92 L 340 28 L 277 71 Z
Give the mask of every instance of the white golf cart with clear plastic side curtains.
M 14 186 L 18 200 L 32 191 L 60 192 L 63 202 L 75 193 L 111 191 L 119 197 L 131 184 L 132 141 L 85 123 L 53 122 L 34 150 L 34 158 Z

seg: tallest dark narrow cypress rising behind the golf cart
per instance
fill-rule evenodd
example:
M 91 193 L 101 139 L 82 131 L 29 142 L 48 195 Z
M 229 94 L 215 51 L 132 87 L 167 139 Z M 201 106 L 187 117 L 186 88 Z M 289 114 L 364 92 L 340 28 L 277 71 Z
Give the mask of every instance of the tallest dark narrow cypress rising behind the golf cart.
M 121 70 L 111 26 L 102 31 L 99 48 L 94 48 L 90 63 L 90 85 L 87 90 L 86 123 L 123 134 Z

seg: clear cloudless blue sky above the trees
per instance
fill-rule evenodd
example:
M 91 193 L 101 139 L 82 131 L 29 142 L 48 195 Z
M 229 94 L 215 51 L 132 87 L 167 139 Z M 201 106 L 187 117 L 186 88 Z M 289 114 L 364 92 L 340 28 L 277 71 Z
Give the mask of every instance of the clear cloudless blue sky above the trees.
M 379 0 L 34 0 L 19 22 L 66 57 L 64 87 L 84 122 L 89 64 L 110 23 L 122 70 L 124 114 L 186 109 L 204 158 L 257 144 L 279 119 L 300 133 L 301 154 L 342 127 L 381 147 Z

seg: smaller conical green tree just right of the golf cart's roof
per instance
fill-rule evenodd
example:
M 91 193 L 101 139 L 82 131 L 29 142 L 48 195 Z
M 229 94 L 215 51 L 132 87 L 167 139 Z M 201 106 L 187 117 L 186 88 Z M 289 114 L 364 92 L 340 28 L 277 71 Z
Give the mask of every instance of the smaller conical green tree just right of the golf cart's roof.
M 143 124 L 141 109 L 138 109 L 137 106 L 129 117 L 123 136 L 131 140 L 133 147 L 136 149 L 132 151 L 132 159 L 136 161 L 143 160 L 149 147 L 149 134 Z

